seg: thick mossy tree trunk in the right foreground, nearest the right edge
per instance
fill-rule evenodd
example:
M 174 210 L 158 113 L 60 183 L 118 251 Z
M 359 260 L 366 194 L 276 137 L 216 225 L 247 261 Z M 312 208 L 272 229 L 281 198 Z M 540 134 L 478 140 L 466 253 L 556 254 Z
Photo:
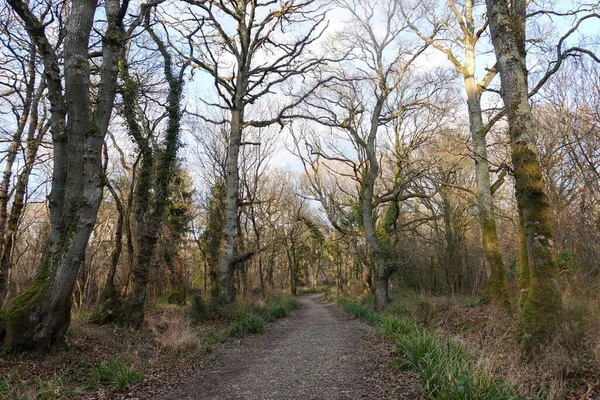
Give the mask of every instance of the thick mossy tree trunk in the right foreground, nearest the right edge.
M 550 205 L 532 139 L 525 51 L 526 1 L 487 0 L 492 43 L 507 110 L 515 192 L 523 218 L 530 286 L 522 312 L 526 351 L 551 339 L 562 312 Z

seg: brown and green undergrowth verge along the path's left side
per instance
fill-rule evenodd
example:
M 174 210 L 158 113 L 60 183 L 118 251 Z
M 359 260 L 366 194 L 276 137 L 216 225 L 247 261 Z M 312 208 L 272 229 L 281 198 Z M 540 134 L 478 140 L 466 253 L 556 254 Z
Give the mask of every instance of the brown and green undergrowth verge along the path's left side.
M 75 348 L 93 348 L 89 357 L 67 351 L 47 355 L 43 362 L 11 358 L 14 368 L 10 369 L 2 365 L 0 355 L 0 399 L 70 399 L 90 391 L 124 391 L 142 381 L 145 373 L 156 374 L 152 365 L 164 365 L 165 359 L 171 362 L 172 357 L 210 353 L 215 344 L 261 332 L 266 323 L 297 308 L 296 298 L 289 295 L 245 299 L 230 305 L 194 297 L 188 307 L 165 305 L 149 310 L 147 328 L 122 331 L 123 340 L 115 341 L 110 327 L 92 325 L 97 327 L 91 330 L 96 332 L 92 343 L 86 334 L 78 333 L 85 329 L 81 320 L 83 326 L 72 328 L 68 340 L 76 341 Z M 98 349 L 101 352 L 96 354 Z M 52 368 L 44 370 L 42 365 Z

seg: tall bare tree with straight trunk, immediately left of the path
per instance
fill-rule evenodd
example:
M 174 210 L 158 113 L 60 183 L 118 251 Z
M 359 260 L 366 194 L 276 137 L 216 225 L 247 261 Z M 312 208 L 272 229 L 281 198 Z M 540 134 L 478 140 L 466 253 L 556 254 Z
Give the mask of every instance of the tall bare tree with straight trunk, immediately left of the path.
M 190 11 L 198 22 L 186 36 L 193 46 L 201 47 L 200 56 L 193 57 L 193 64 L 214 79 L 219 96 L 218 102 L 208 105 L 229 113 L 227 118 L 212 122 L 229 126 L 219 291 L 224 301 L 233 302 L 235 267 L 254 253 L 253 250 L 238 253 L 235 240 L 240 203 L 239 154 L 245 144 L 243 131 L 249 126 L 261 128 L 280 122 L 305 95 L 294 97 L 285 106 L 272 104 L 270 115 L 257 115 L 256 119 L 249 117 L 251 105 L 264 101 L 283 84 L 310 73 L 324 62 L 323 58 L 310 55 L 310 47 L 322 34 L 325 10 L 318 0 L 186 2 L 193 6 Z M 228 24 L 233 24 L 235 33 L 230 32 Z

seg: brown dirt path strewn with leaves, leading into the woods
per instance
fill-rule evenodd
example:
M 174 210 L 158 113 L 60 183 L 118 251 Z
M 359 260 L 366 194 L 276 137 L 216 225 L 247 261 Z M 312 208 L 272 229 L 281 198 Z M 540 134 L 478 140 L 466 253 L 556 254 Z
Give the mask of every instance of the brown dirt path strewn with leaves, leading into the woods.
M 371 328 L 322 295 L 294 315 L 216 355 L 209 368 L 161 388 L 154 399 L 418 399 L 418 384 L 387 362 Z

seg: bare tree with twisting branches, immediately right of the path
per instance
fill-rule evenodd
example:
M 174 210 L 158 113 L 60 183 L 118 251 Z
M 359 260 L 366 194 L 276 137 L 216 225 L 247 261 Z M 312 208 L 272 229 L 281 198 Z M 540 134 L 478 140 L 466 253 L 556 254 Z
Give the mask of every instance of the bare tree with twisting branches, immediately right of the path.
M 401 177 L 399 162 L 403 152 L 397 141 L 392 141 L 395 143 L 391 146 L 393 172 L 390 185 L 386 185 L 382 179 L 380 152 L 386 142 L 383 131 L 391 132 L 398 139 L 398 121 L 424 107 L 437 88 L 423 83 L 420 88 L 408 84 L 409 79 L 415 79 L 413 64 L 428 44 L 410 47 L 402 42 L 401 35 L 406 25 L 398 18 L 396 2 L 338 1 L 336 4 L 350 14 L 352 23 L 352 28 L 343 32 L 336 41 L 351 49 L 355 66 L 349 63 L 343 65 L 337 73 L 338 79 L 310 99 L 303 118 L 332 129 L 334 135 L 336 132 L 345 135 L 356 158 L 349 157 L 349 151 L 335 141 L 329 143 L 329 149 L 321 144 L 321 140 L 313 141 L 309 143 L 307 154 L 302 155 L 298 146 L 296 153 L 305 162 L 317 199 L 328 211 L 334 227 L 343 233 L 352 234 L 353 229 L 344 228 L 340 212 L 335 211 L 333 197 L 323 191 L 324 182 L 320 181 L 322 177 L 317 171 L 319 159 L 325 160 L 325 168 L 329 171 L 337 171 L 338 175 L 345 175 L 355 182 L 357 193 L 351 207 L 358 218 L 358 227 L 377 260 L 376 307 L 382 309 L 389 301 L 388 282 L 395 270 L 395 257 L 390 253 L 393 246 L 387 237 L 399 215 L 398 203 L 430 195 L 412 191 L 406 186 L 405 183 L 411 179 Z M 384 21 L 383 29 L 376 28 L 377 20 Z M 339 183 L 335 185 L 337 190 L 346 191 Z M 384 207 L 385 215 L 379 215 Z M 379 226 L 378 217 L 381 217 Z

